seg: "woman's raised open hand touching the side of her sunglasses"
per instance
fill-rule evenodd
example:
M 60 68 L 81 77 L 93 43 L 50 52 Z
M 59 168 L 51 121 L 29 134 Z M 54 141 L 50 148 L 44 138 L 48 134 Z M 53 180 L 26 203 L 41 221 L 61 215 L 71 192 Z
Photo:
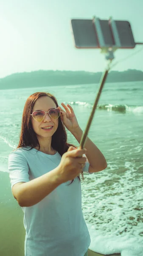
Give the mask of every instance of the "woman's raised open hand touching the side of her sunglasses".
M 66 105 L 64 105 L 64 103 L 61 103 L 61 105 L 65 109 L 65 111 L 64 111 L 61 107 L 58 107 L 61 110 L 61 120 L 64 123 L 67 130 L 69 130 L 72 133 L 72 131 L 79 128 L 79 124 L 76 119 L 76 115 L 73 111 L 73 108 L 69 104 L 67 104 L 67 106 L 66 106 Z

